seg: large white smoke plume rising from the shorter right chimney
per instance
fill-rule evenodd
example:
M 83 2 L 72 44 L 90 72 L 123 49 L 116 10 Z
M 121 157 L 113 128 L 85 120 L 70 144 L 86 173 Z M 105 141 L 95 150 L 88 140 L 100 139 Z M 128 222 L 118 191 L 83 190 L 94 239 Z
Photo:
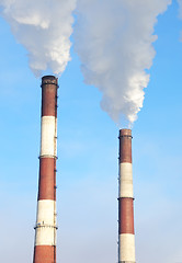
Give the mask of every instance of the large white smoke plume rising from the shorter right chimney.
M 157 16 L 171 0 L 79 0 L 76 52 L 84 81 L 103 93 L 102 108 L 132 124 L 143 107 L 155 57 Z

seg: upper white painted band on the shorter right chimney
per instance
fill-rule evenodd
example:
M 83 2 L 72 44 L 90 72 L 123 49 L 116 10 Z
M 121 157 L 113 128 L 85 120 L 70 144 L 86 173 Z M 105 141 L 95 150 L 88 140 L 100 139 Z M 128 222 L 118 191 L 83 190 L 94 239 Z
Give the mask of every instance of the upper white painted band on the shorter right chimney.
M 120 197 L 134 197 L 133 165 L 129 162 L 120 164 Z

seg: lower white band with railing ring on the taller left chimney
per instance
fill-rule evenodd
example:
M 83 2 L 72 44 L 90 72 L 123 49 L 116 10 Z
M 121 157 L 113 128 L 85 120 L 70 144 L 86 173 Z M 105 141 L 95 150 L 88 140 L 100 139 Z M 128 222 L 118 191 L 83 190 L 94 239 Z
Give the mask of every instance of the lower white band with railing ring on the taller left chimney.
M 35 245 L 56 245 L 56 202 L 38 201 Z

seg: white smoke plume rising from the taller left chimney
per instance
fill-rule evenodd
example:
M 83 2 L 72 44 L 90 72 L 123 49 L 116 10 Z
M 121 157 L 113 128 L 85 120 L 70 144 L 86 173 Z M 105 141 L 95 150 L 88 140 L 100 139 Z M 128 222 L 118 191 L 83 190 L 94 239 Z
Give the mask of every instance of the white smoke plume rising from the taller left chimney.
M 76 0 L 0 0 L 1 14 L 27 50 L 36 77 L 60 75 L 70 60 Z

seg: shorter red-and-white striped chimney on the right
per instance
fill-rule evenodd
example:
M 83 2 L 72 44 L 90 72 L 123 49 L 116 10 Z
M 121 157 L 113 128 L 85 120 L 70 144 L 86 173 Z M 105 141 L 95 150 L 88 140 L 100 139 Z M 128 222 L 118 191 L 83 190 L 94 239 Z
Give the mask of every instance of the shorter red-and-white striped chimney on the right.
M 118 263 L 135 263 L 132 130 L 120 130 Z

